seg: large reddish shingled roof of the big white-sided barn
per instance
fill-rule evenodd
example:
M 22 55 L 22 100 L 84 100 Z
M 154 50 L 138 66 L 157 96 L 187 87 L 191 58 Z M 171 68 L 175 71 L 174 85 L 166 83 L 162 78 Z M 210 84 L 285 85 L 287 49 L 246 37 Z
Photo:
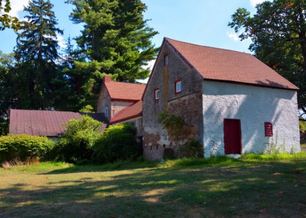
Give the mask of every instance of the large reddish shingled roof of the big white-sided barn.
M 174 51 L 203 79 L 298 90 L 283 76 L 254 56 L 164 38 Z

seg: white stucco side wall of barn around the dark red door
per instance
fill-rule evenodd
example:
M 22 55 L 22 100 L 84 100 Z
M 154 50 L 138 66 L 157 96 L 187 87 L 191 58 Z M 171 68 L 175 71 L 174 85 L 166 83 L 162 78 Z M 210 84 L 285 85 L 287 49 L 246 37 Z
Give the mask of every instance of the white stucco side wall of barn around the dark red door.
M 216 81 L 202 82 L 205 157 L 224 154 L 223 119 L 240 119 L 242 153 L 263 153 L 267 142 L 300 151 L 296 92 Z M 273 123 L 265 137 L 264 122 Z

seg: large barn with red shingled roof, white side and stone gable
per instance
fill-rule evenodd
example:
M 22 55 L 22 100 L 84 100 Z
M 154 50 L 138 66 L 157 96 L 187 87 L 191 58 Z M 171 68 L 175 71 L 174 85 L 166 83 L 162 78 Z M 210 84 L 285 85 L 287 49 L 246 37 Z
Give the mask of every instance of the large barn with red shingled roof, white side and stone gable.
M 204 156 L 262 153 L 276 144 L 299 152 L 298 87 L 248 53 L 164 38 L 142 96 L 143 154 L 162 159 L 196 139 Z M 175 142 L 158 114 L 181 116 Z

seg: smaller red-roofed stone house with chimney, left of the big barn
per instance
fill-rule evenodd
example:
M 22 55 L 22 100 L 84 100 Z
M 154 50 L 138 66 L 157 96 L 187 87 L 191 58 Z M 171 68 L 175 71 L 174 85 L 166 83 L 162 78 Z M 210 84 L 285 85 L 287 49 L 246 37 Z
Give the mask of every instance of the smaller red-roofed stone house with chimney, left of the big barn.
M 142 101 L 145 85 L 112 81 L 103 78 L 97 101 L 97 113 L 104 113 L 110 124 L 129 123 L 137 128 L 137 136 L 142 137 Z

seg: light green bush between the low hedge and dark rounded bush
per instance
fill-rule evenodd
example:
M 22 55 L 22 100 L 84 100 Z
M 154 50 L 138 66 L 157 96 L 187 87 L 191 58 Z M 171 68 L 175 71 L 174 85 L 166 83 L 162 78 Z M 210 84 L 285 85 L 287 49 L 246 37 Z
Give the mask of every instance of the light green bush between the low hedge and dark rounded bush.
M 90 159 L 92 146 L 101 135 L 101 124 L 87 115 L 83 119 L 69 120 L 59 141 L 59 156 L 72 163 Z

